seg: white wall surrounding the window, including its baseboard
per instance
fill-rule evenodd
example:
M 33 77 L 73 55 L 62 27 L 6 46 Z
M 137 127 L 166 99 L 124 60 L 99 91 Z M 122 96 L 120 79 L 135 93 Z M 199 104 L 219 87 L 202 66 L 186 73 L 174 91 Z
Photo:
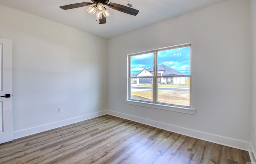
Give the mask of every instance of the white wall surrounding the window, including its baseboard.
M 250 34 L 250 1 L 228 0 L 108 40 L 110 113 L 249 149 Z M 126 54 L 182 43 L 192 43 L 192 108 L 196 114 L 126 104 Z

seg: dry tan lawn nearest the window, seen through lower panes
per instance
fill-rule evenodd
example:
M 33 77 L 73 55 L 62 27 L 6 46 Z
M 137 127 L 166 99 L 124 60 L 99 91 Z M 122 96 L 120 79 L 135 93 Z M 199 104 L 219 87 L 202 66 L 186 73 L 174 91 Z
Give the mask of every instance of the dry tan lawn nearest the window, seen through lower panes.
M 168 84 L 162 84 L 168 85 Z M 170 84 L 174 85 L 174 84 Z M 152 102 L 152 90 L 132 92 L 132 99 Z M 189 92 L 159 90 L 158 102 L 189 106 Z

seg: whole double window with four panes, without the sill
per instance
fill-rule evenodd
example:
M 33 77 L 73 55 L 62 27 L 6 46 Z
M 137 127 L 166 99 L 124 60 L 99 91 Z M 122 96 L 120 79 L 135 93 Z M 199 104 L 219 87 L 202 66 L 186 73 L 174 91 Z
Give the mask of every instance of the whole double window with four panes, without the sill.
M 128 55 L 128 100 L 191 108 L 191 45 Z

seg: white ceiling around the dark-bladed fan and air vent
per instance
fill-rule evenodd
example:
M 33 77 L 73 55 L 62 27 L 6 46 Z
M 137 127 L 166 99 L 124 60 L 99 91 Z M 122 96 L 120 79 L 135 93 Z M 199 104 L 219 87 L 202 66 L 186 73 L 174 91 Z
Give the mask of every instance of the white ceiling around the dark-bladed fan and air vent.
M 106 24 L 99 25 L 95 16 L 88 14 L 88 6 L 62 10 L 59 6 L 90 0 L 0 0 L 0 4 L 21 10 L 48 20 L 110 39 L 118 35 L 152 25 L 225 0 L 110 0 L 117 4 L 130 2 L 140 10 L 137 16 L 108 8 L 111 16 Z

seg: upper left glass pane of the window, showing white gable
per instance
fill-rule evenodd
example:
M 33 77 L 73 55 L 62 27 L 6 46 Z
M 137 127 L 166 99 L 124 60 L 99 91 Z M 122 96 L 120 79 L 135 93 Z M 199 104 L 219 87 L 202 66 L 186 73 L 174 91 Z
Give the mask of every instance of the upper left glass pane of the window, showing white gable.
M 131 76 L 153 76 L 154 53 L 131 56 Z

